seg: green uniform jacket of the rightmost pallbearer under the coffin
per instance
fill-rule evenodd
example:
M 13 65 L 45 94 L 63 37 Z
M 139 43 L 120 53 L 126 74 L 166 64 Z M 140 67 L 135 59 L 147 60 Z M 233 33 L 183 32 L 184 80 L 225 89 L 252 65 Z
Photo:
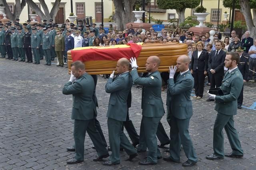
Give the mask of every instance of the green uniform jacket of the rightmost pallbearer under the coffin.
M 194 87 L 194 78 L 190 71 L 178 75 L 176 82 L 168 79 L 168 95 L 171 96 L 171 114 L 177 119 L 187 119 L 192 117 L 192 101 L 190 95 Z

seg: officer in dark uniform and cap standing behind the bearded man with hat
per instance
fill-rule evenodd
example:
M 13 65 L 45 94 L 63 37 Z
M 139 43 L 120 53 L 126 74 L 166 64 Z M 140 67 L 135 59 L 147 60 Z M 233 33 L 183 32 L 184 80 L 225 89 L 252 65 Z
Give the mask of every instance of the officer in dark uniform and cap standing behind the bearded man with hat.
M 246 81 L 248 81 L 248 74 L 249 74 L 249 59 L 248 59 L 249 56 L 248 56 L 248 53 L 244 52 L 244 48 L 241 46 L 236 48 L 236 52 L 238 53 L 238 55 L 240 57 L 240 61 L 237 66 L 243 76 L 244 82 L 246 82 Z M 242 109 L 243 98 L 244 98 L 244 85 L 243 85 L 241 93 L 237 99 L 237 108 L 238 109 Z

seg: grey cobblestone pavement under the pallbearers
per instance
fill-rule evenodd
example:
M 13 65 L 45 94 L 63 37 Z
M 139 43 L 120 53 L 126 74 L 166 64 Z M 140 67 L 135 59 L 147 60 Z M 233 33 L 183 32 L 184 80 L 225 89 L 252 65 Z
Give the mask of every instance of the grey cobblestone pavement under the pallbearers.
M 93 162 L 96 151 L 88 135 L 85 139 L 84 162 L 67 165 L 66 160 L 74 152 L 66 147 L 73 143 L 73 121 L 70 120 L 72 96 L 62 95 L 62 87 L 69 80 L 67 69 L 55 65 L 44 66 L 0 59 L 0 169 L 256 169 L 256 102 L 255 83 L 244 87 L 244 107 L 235 116 L 244 158 L 224 158 L 207 160 L 205 156 L 213 152 L 213 125 L 216 118 L 214 103 L 203 99 L 192 99 L 194 115 L 190 121 L 190 134 L 199 162 L 190 168 L 182 167 L 186 156 L 182 151 L 181 163 L 159 160 L 154 166 L 139 166 L 145 154 L 140 154 L 132 162 L 125 152 L 121 152 L 121 164 L 111 167 L 102 162 Z M 105 93 L 106 79 L 99 76 L 96 95 L 99 109 L 98 120 L 108 141 L 106 112 L 109 95 Z M 208 87 L 205 89 L 205 93 Z M 162 92 L 166 101 L 166 90 Z M 141 90 L 132 87 L 132 108 L 130 118 L 139 132 L 141 115 Z M 165 108 L 166 109 L 166 108 Z M 162 123 L 166 132 L 170 127 L 166 116 Z M 224 150 L 231 151 L 225 134 Z M 167 153 L 160 149 L 162 156 Z

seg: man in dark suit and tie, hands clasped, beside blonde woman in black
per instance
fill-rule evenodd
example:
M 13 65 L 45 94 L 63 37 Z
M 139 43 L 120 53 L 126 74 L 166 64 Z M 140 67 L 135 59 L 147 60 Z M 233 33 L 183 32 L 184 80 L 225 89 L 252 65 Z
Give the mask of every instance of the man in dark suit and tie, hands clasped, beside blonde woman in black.
M 208 68 L 210 70 L 210 83 L 211 88 L 220 87 L 221 80 L 224 75 L 224 61 L 226 57 L 226 52 L 221 49 L 222 43 L 217 41 L 215 43 L 216 50 L 213 50 L 208 59 Z M 213 101 L 208 99 L 207 101 Z

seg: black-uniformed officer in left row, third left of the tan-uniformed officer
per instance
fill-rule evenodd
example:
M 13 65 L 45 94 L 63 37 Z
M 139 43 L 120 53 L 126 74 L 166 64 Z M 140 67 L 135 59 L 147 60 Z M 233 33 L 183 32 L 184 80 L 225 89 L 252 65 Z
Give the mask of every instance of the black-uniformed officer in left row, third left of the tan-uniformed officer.
M 28 28 L 24 29 L 24 41 L 23 41 L 23 48 L 25 49 L 27 61 L 25 63 L 33 63 L 32 59 L 32 49 L 31 49 L 31 38 L 30 33 L 28 32 Z

